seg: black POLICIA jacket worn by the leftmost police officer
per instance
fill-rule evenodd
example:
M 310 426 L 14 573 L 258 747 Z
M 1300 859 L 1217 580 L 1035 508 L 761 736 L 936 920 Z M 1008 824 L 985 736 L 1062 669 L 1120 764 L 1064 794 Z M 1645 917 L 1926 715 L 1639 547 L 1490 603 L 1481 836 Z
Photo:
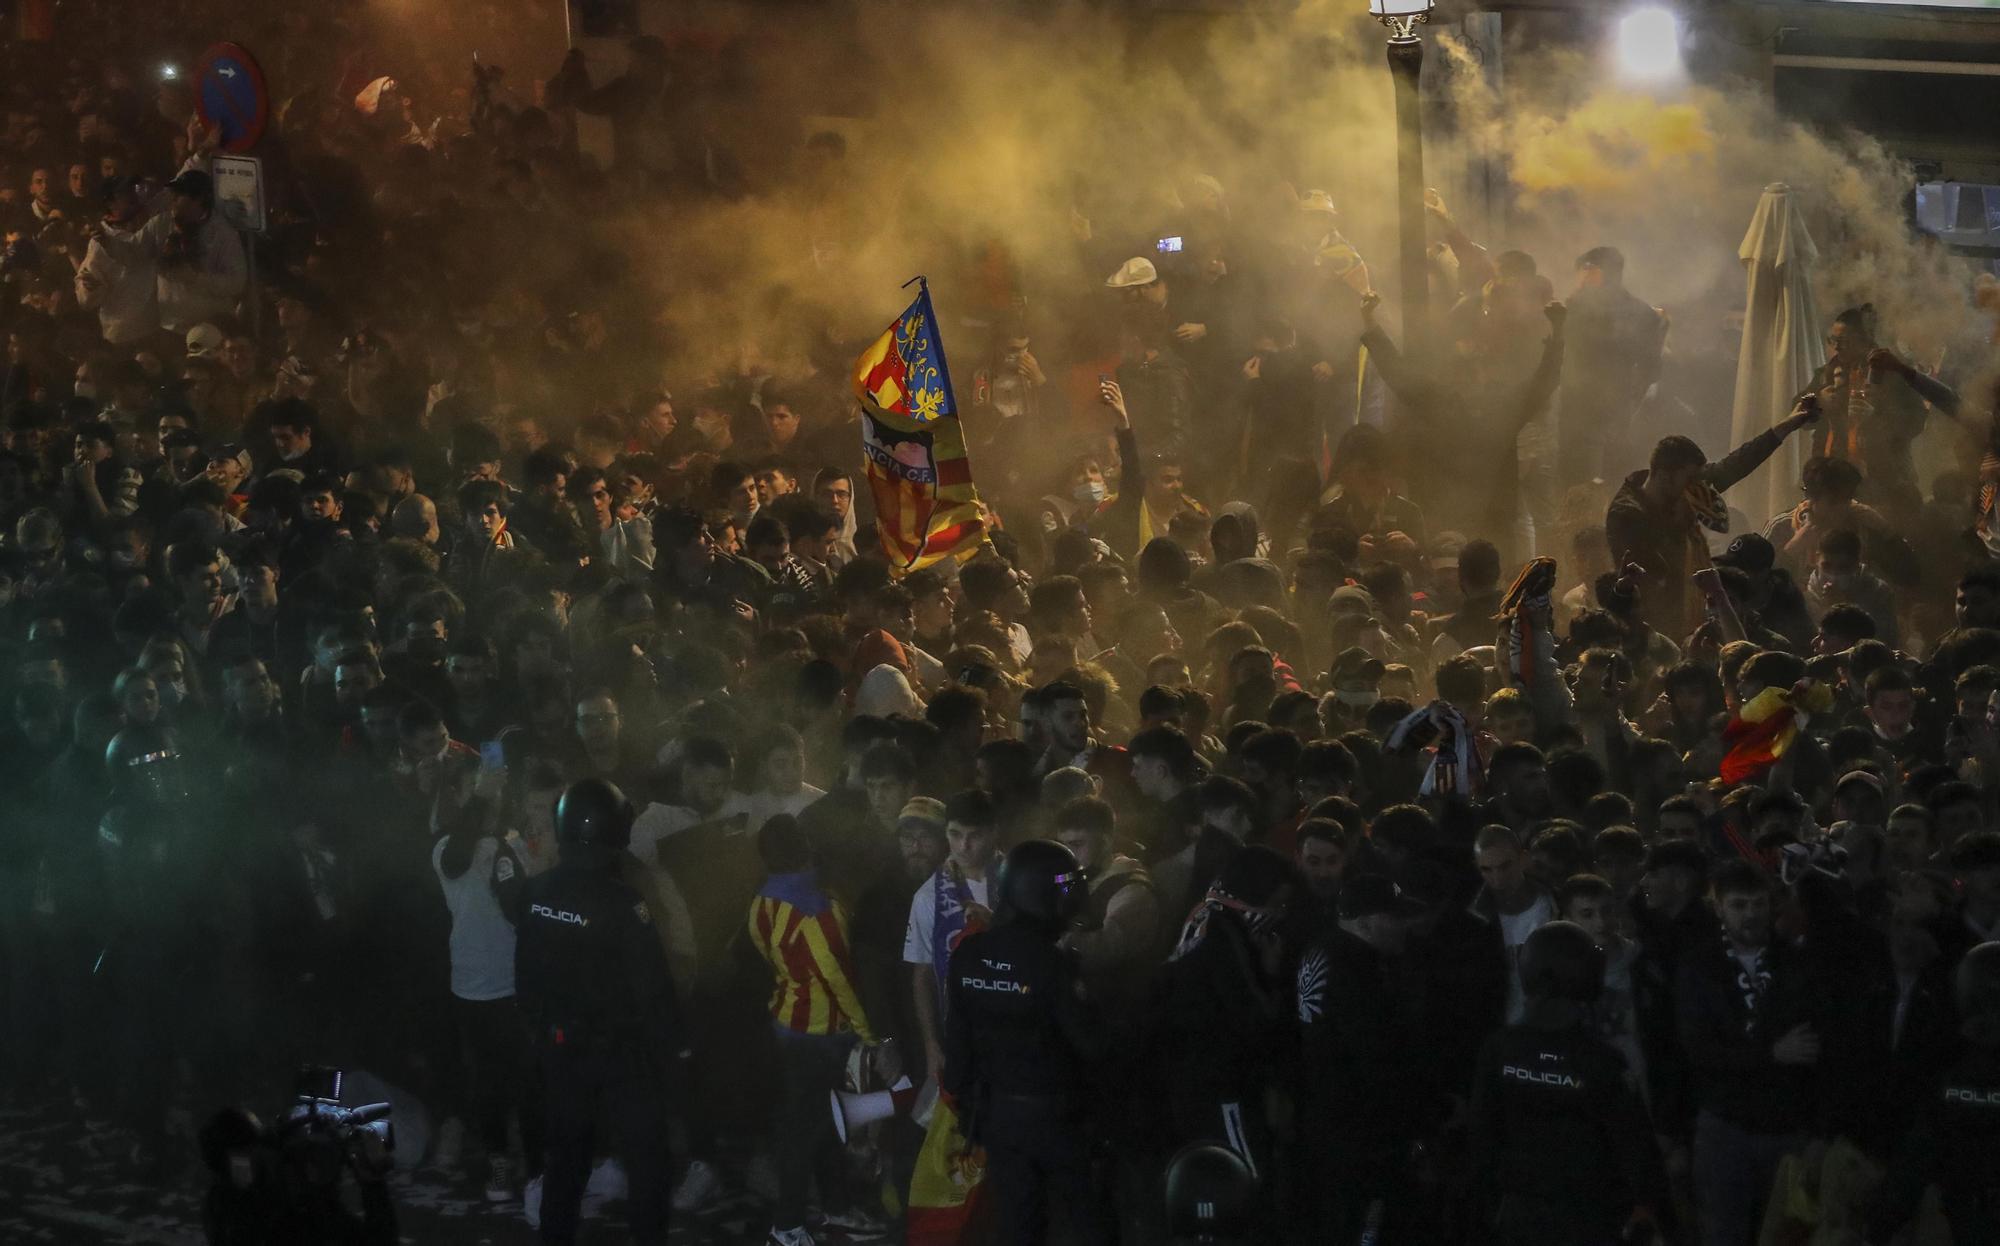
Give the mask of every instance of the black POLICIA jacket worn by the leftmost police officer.
M 680 1006 L 652 910 L 590 852 L 528 880 L 514 940 L 514 994 L 544 1048 L 626 1064 L 682 1044 Z

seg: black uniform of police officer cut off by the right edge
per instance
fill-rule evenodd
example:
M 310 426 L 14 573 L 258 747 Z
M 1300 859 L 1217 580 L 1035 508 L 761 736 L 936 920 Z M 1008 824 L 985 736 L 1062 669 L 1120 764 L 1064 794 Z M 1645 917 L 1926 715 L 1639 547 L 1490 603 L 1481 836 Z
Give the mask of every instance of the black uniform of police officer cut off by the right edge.
M 1918 1110 L 1882 1182 L 1870 1242 L 1888 1242 L 1938 1184 L 1954 1242 L 2000 1242 L 2000 1050 L 1968 1048 Z

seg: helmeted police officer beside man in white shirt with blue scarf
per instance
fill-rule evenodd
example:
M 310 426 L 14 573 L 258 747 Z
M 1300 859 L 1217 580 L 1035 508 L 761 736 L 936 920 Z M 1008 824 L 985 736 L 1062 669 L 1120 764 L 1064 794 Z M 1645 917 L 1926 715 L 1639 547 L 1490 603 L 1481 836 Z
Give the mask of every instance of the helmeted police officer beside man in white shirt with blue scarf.
M 1056 946 L 1084 902 L 1062 844 L 1028 840 L 1000 868 L 994 926 L 952 952 L 942 1088 L 986 1148 L 1000 1242 L 1108 1242 L 1084 1102 L 1102 1024 Z

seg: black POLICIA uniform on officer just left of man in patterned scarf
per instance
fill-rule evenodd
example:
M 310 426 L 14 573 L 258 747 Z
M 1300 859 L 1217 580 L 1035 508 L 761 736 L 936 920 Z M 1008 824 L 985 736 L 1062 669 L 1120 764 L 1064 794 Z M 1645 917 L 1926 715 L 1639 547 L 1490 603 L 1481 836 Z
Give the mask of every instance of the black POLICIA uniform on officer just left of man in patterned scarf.
M 1582 1022 L 1508 1026 L 1486 1040 L 1470 1146 L 1506 1244 L 1602 1246 L 1618 1242 L 1634 1208 L 1666 1208 L 1666 1172 L 1626 1062 Z

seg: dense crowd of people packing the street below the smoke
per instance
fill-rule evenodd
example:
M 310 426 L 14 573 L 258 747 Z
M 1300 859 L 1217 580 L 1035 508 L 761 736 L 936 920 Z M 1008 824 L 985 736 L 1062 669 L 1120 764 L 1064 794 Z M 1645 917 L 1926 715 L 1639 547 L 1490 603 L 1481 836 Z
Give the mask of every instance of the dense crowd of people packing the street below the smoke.
M 12 1094 L 166 1180 L 366 1070 L 550 1242 L 604 1154 L 648 1242 L 744 1186 L 778 1246 L 2000 1240 L 1972 372 L 1850 308 L 1704 446 L 1614 246 L 1432 198 L 1398 344 L 1330 194 L 1190 170 L 940 274 L 988 538 L 890 566 L 886 304 L 696 362 L 568 224 L 866 228 L 840 136 L 742 158 L 700 56 L 296 104 L 264 234 L 146 60 L 16 56 Z

